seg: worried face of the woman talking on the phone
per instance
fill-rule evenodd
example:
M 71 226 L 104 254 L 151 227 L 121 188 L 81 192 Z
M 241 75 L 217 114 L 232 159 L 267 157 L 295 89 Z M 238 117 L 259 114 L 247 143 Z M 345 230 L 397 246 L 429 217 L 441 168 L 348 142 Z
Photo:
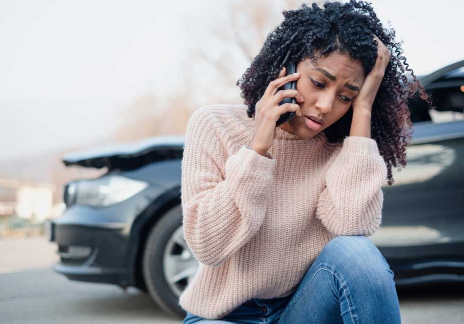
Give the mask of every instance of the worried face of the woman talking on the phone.
M 299 62 L 297 72 L 297 90 L 304 98 L 304 102 L 297 101 L 302 116 L 296 115 L 279 127 L 301 139 L 316 136 L 345 115 L 365 78 L 360 61 L 336 51 L 319 58 L 317 66 L 309 58 Z M 305 116 L 322 119 L 323 125 Z

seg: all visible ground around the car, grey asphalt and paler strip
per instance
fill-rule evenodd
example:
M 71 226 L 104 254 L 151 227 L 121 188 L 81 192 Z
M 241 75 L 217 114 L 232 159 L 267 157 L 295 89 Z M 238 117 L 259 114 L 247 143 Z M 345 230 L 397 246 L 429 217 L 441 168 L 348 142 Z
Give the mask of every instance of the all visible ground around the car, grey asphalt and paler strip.
M 148 294 L 68 280 L 55 273 L 56 247 L 45 239 L 0 239 L 0 323 L 182 323 Z M 464 323 L 464 285 L 398 290 L 404 324 Z

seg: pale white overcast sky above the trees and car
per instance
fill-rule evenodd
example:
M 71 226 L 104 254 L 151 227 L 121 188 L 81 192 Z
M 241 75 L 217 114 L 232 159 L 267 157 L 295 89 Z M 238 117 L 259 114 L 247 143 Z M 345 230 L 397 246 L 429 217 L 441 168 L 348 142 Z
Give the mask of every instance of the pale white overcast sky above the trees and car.
M 186 21 L 206 26 L 224 1 L 2 0 L 0 160 L 108 136 L 118 109 L 175 87 L 181 48 L 201 44 Z M 464 59 L 464 1 L 371 2 L 416 75 Z

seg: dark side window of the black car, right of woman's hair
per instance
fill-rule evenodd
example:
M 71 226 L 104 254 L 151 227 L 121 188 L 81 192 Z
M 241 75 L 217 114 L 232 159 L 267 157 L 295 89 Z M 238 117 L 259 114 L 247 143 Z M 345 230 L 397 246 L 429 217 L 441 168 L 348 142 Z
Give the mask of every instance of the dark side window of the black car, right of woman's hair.
M 436 109 L 429 109 L 418 94 L 408 102 L 412 122 L 442 123 L 464 119 L 464 67 L 448 72 L 426 87 Z

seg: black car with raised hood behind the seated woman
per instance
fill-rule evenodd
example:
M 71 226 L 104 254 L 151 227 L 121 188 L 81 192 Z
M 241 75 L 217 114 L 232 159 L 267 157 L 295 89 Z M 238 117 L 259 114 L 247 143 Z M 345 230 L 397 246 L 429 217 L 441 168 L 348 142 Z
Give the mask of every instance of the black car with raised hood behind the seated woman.
M 382 226 L 369 239 L 388 260 L 397 286 L 464 282 L 463 67 L 461 61 L 419 78 L 437 109 L 410 100 L 408 165 L 393 170 L 393 186 L 383 186 Z M 185 316 L 178 298 L 198 261 L 182 229 L 184 139 L 154 137 L 63 158 L 67 166 L 108 172 L 64 188 L 67 208 L 49 223 L 58 273 L 137 287 L 166 311 Z

